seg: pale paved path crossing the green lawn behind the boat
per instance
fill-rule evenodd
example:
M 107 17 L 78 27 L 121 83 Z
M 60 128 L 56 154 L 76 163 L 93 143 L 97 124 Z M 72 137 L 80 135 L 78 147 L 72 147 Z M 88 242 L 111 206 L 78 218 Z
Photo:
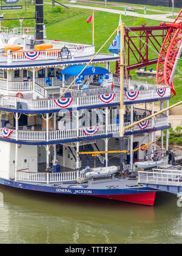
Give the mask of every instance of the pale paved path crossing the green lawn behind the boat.
M 66 4 L 68 7 L 73 7 L 73 8 L 81 8 L 81 9 L 90 9 L 90 10 L 98 10 L 101 12 L 109 12 L 109 13 L 116 13 L 116 14 L 121 14 L 124 15 L 125 12 L 121 10 L 115 10 L 115 9 L 107 9 L 107 8 L 101 8 L 101 7 L 92 7 L 92 6 L 86 6 L 86 5 L 78 5 L 78 4 Z M 144 15 L 140 13 L 135 13 L 135 12 L 126 12 L 128 16 L 135 16 L 135 17 L 142 17 L 150 20 L 158 20 L 158 21 L 166 21 L 166 22 L 173 22 L 174 19 L 166 18 L 167 16 L 170 16 L 171 13 L 166 13 L 166 14 L 155 14 L 155 15 Z

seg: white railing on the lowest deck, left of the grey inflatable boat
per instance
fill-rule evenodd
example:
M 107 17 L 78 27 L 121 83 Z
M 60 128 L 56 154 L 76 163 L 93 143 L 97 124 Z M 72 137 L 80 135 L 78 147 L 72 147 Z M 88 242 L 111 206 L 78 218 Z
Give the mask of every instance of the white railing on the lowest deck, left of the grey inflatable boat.
M 16 180 L 22 182 L 40 182 L 40 183 L 52 183 L 52 182 L 64 182 L 75 181 L 78 177 L 84 177 L 81 171 L 70 172 L 29 172 L 29 171 L 17 171 Z

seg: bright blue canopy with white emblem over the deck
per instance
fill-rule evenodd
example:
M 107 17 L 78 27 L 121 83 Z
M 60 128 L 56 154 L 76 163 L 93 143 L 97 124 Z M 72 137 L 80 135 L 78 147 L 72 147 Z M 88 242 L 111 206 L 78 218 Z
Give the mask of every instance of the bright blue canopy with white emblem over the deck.
M 78 76 L 78 74 L 84 69 L 84 65 L 76 65 L 69 66 L 68 68 L 64 68 L 61 74 L 69 75 L 69 76 Z M 108 74 L 109 70 L 106 68 L 101 68 L 100 66 L 87 66 L 84 69 L 82 76 L 93 76 L 96 74 Z

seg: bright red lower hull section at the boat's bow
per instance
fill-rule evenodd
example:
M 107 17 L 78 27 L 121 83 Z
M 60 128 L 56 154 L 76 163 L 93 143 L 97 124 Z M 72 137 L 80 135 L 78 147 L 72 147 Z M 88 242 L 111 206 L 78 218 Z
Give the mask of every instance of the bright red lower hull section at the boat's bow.
M 153 206 L 155 201 L 155 192 L 147 192 L 140 194 L 96 195 L 95 197 Z

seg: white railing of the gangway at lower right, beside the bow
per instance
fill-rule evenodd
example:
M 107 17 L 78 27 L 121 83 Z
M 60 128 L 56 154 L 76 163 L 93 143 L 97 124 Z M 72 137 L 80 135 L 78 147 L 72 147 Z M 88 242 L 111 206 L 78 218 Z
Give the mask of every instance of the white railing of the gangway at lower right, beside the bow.
M 182 186 L 182 171 L 170 169 L 153 169 L 153 171 L 138 171 L 138 182 L 155 184 Z

